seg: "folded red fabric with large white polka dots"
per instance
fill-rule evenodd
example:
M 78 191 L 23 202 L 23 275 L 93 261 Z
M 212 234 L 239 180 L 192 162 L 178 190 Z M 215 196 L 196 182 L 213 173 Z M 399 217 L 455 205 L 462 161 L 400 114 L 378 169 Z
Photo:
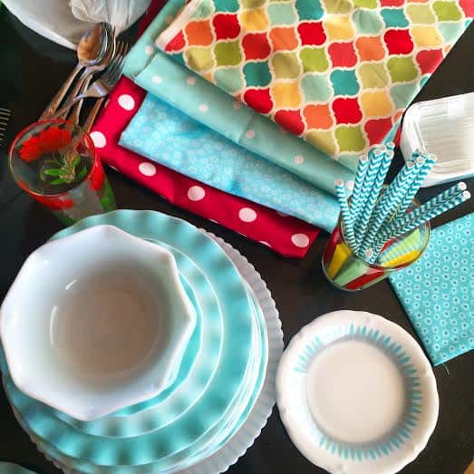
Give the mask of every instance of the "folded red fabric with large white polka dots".
M 169 202 L 256 240 L 284 256 L 305 256 L 319 233 L 297 218 L 190 179 L 119 146 L 121 131 L 138 111 L 145 92 L 123 77 L 92 128 L 102 161 Z

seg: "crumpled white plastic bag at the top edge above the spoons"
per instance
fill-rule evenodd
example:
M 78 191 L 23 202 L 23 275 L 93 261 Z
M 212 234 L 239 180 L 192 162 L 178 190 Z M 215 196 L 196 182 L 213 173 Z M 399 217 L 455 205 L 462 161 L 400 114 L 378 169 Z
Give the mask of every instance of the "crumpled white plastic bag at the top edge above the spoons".
M 150 0 L 71 0 L 69 5 L 79 20 L 113 24 L 119 34 L 145 13 Z

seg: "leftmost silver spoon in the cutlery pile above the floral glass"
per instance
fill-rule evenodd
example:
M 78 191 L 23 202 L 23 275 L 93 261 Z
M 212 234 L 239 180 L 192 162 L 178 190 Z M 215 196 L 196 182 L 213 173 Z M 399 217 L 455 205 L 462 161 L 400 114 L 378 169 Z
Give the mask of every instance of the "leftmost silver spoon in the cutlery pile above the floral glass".
M 54 95 L 51 102 L 46 109 L 44 109 L 44 112 L 40 116 L 41 121 L 50 118 L 55 111 L 57 111 L 63 101 L 64 95 L 69 91 L 77 74 L 79 74 L 82 69 L 90 67 L 102 60 L 107 52 L 107 45 L 108 34 L 104 24 L 94 24 L 90 30 L 83 34 L 81 41 L 77 45 L 78 62 L 73 72 L 63 83 L 61 89 L 56 92 L 56 95 Z

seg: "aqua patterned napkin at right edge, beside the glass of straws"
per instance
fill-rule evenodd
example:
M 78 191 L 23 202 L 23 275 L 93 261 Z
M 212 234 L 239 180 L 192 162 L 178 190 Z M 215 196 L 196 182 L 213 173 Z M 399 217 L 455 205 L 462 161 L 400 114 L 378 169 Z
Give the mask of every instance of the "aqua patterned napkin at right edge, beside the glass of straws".
M 474 213 L 432 230 L 420 260 L 390 280 L 431 362 L 474 348 Z

